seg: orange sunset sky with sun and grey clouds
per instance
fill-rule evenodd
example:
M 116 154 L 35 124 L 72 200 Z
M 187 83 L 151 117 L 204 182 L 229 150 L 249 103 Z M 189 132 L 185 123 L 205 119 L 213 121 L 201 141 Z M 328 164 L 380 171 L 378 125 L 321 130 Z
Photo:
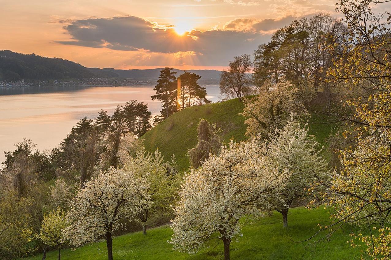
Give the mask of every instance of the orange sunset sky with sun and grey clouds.
M 336 0 L 0 0 L 0 49 L 83 66 L 222 69 Z

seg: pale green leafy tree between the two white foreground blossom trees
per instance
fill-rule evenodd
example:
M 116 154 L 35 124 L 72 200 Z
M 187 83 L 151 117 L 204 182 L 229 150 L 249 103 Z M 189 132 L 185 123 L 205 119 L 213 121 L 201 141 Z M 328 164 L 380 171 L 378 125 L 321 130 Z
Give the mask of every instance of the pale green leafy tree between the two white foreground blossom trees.
M 159 150 L 154 153 L 147 153 L 145 148 L 136 153 L 135 158 L 126 161 L 124 169 L 133 170 L 136 178 L 145 179 L 149 183 L 146 190 L 151 198 L 152 205 L 146 205 L 138 214 L 143 234 L 147 233 L 147 221 L 152 214 L 159 213 L 161 216 L 170 212 L 169 206 L 176 189 L 176 176 L 167 172 L 163 155 Z

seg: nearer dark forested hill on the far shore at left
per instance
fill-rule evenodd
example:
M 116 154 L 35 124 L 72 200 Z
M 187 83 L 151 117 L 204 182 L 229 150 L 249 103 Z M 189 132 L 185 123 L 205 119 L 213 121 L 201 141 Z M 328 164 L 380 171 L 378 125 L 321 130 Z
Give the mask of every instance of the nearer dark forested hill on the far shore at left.
M 34 53 L 22 54 L 0 50 L 0 56 L 0 81 L 118 77 L 110 71 L 86 68 L 72 61 L 42 57 Z

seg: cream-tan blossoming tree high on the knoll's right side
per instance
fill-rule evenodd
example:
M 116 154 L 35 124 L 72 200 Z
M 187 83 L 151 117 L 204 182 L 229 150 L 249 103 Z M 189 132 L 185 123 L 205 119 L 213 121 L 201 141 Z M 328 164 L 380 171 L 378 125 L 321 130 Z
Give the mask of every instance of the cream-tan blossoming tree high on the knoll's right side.
M 270 131 L 281 128 L 289 120 L 291 112 L 300 112 L 302 103 L 297 98 L 297 91 L 288 81 L 280 80 L 273 84 L 267 80 L 259 89 L 258 96 L 244 99 L 242 115 L 248 125 L 246 135 L 254 137 L 260 134 L 267 138 Z

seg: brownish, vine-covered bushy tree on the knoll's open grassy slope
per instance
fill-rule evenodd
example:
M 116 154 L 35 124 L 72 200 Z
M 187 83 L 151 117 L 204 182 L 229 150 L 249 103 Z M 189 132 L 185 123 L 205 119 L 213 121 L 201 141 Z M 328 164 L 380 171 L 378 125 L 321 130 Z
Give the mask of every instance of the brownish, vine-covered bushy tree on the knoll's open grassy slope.
M 217 134 L 218 130 L 206 119 L 201 119 L 197 125 L 197 144 L 187 151 L 190 158 L 190 166 L 197 169 L 201 162 L 209 158 L 209 154 L 218 155 L 222 146 L 222 138 Z

